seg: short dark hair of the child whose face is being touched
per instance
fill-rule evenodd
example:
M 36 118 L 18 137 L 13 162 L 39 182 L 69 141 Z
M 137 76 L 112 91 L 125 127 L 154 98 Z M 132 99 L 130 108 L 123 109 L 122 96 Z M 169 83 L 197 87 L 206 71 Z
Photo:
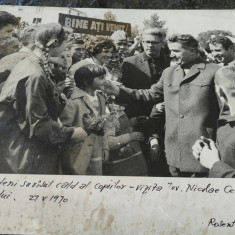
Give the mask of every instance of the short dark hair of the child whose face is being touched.
M 101 77 L 106 74 L 103 66 L 97 64 L 87 64 L 80 67 L 74 74 L 76 86 L 84 89 L 91 86 L 96 77 Z

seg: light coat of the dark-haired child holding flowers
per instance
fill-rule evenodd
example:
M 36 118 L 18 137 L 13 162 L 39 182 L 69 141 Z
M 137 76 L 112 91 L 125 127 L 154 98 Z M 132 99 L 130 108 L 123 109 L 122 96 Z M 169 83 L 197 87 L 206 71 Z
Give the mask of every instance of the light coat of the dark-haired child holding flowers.
M 105 98 L 97 93 L 100 112 L 105 114 Z M 72 91 L 60 120 L 65 126 L 76 126 L 84 128 L 83 116 L 94 115 L 95 108 L 84 91 L 76 88 Z M 89 132 L 89 130 L 86 130 Z M 102 175 L 103 149 L 109 149 L 101 135 L 89 134 L 82 143 L 73 143 L 67 146 L 62 153 L 62 170 L 64 174 L 79 175 Z M 73 165 L 75 164 L 75 165 Z

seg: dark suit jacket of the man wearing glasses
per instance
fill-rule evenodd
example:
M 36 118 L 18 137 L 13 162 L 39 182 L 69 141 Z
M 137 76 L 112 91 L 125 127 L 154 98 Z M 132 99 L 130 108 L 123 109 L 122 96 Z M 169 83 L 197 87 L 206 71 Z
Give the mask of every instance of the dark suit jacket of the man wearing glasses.
M 132 89 L 149 89 L 158 82 L 163 70 L 170 65 L 169 60 L 161 54 L 156 67 L 156 74 L 153 77 L 149 66 L 148 57 L 145 52 L 126 58 L 123 61 L 121 82 L 124 86 Z M 126 107 L 128 117 L 136 117 L 150 114 L 152 104 L 142 101 L 133 101 Z

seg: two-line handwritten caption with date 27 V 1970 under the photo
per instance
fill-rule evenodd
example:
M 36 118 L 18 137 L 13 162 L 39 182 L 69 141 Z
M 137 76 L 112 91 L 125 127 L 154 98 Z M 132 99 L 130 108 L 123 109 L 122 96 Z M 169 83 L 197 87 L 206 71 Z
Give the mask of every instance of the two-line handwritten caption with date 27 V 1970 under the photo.
M 138 178 L 137 178 L 138 179 Z M 105 183 L 104 183 L 105 182 Z M 182 192 L 182 193 L 207 193 L 207 194 L 218 194 L 218 193 L 226 193 L 226 194 L 233 194 L 235 192 L 235 185 L 225 185 L 222 187 L 217 187 L 212 185 L 211 183 L 202 182 L 201 184 L 193 184 L 193 183 L 181 183 L 177 185 L 175 182 L 163 182 L 162 184 L 159 183 L 150 183 L 150 184 L 127 184 L 127 180 L 113 180 L 110 179 L 107 183 L 107 180 L 102 180 L 100 178 L 97 181 L 97 178 L 92 182 L 79 182 L 75 180 L 71 180 L 69 182 L 59 182 L 59 181 L 45 181 L 45 180 L 38 180 L 38 181 L 29 181 L 29 180 L 12 180 L 4 177 L 0 180 L 0 199 L 10 199 L 12 198 L 13 192 L 14 194 L 19 193 L 19 190 L 13 190 L 14 188 L 28 188 L 28 189 L 40 189 L 40 188 L 53 188 L 58 189 L 61 192 L 63 189 L 64 192 L 67 190 L 86 190 L 88 187 L 90 190 L 95 190 L 98 192 L 105 192 L 105 191 L 125 191 L 125 190 L 132 190 L 141 194 L 147 193 L 156 193 L 161 191 L 172 191 L 172 192 Z M 129 182 L 128 182 L 129 183 Z M 53 190 L 54 191 L 54 190 Z M 52 201 L 58 203 L 65 203 L 68 202 L 68 198 L 61 196 L 61 195 L 39 195 L 34 194 L 34 191 L 30 191 L 31 195 L 29 197 L 30 201 Z M 45 192 L 45 191 L 44 191 Z M 49 191 L 48 191 L 49 194 Z

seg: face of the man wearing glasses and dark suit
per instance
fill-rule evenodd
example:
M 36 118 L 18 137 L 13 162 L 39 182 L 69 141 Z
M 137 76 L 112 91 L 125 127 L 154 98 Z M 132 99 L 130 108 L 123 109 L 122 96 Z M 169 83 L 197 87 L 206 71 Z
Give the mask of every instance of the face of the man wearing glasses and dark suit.
M 158 36 L 143 35 L 142 45 L 147 56 L 151 58 L 160 56 L 162 42 Z

